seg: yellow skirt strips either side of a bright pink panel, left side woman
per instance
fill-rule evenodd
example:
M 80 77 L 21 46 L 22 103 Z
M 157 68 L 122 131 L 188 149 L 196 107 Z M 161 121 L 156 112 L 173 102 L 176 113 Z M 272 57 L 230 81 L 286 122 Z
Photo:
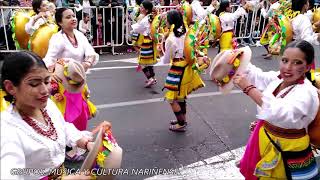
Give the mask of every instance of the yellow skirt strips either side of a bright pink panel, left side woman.
M 59 94 L 62 95 L 63 99 L 61 101 L 57 101 L 54 98 L 54 96 L 51 96 L 51 100 L 57 105 L 60 112 L 62 114 L 64 114 L 65 110 L 66 110 L 66 97 L 64 96 L 65 89 L 64 89 L 62 83 L 59 82 L 58 84 L 59 84 L 58 92 L 59 92 Z M 82 97 L 87 101 L 89 112 L 90 112 L 90 117 L 94 117 L 97 112 L 97 107 L 89 100 L 88 85 L 87 84 L 83 88 Z

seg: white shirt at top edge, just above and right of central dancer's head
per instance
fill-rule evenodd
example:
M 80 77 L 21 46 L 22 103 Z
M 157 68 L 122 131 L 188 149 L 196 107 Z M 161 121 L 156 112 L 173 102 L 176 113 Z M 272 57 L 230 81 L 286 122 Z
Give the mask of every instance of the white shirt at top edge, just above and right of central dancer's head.
M 204 19 L 208 13 L 211 13 L 212 11 L 214 11 L 214 7 L 212 6 L 212 4 L 210 4 L 210 6 L 207 7 L 207 9 L 205 10 L 201 4 L 199 0 L 193 0 L 191 3 L 191 9 L 192 9 L 192 21 L 195 22 L 197 20 L 202 20 Z

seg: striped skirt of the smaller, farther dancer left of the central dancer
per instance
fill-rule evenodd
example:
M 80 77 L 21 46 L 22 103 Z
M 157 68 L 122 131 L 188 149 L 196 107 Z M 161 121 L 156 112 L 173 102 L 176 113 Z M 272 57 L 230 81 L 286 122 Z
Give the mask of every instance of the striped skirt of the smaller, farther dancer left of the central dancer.
M 145 66 L 157 63 L 156 46 L 149 36 L 144 36 L 143 38 L 138 63 Z

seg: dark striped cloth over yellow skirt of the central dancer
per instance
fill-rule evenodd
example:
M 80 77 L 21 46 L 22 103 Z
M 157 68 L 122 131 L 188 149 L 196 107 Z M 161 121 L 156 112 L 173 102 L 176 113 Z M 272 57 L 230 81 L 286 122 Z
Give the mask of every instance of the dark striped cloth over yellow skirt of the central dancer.
M 179 91 L 183 72 L 184 67 L 171 66 L 166 78 L 166 83 L 164 84 L 164 88 L 167 88 L 171 91 Z

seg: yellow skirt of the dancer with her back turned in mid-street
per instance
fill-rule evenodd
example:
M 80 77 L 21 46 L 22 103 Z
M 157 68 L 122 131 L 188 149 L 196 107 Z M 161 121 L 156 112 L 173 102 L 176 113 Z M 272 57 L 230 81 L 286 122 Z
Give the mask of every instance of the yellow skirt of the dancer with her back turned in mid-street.
M 186 66 L 186 68 L 183 73 L 180 91 L 168 90 L 165 94 L 167 101 L 184 101 L 192 91 L 205 86 L 200 75 L 192 69 L 192 65 L 187 65 L 186 61 L 175 62 L 173 65 L 180 67 Z

